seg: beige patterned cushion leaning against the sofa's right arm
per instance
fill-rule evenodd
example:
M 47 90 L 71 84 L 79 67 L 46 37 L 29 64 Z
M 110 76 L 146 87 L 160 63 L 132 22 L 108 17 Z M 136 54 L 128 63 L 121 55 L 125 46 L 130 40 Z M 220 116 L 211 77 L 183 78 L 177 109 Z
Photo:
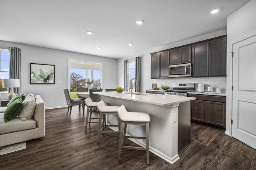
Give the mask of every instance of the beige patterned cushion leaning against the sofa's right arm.
M 31 119 L 34 115 L 36 107 L 34 94 L 28 94 L 28 96 L 26 96 L 25 100 L 22 103 L 23 107 L 18 114 L 18 117 L 23 121 Z

